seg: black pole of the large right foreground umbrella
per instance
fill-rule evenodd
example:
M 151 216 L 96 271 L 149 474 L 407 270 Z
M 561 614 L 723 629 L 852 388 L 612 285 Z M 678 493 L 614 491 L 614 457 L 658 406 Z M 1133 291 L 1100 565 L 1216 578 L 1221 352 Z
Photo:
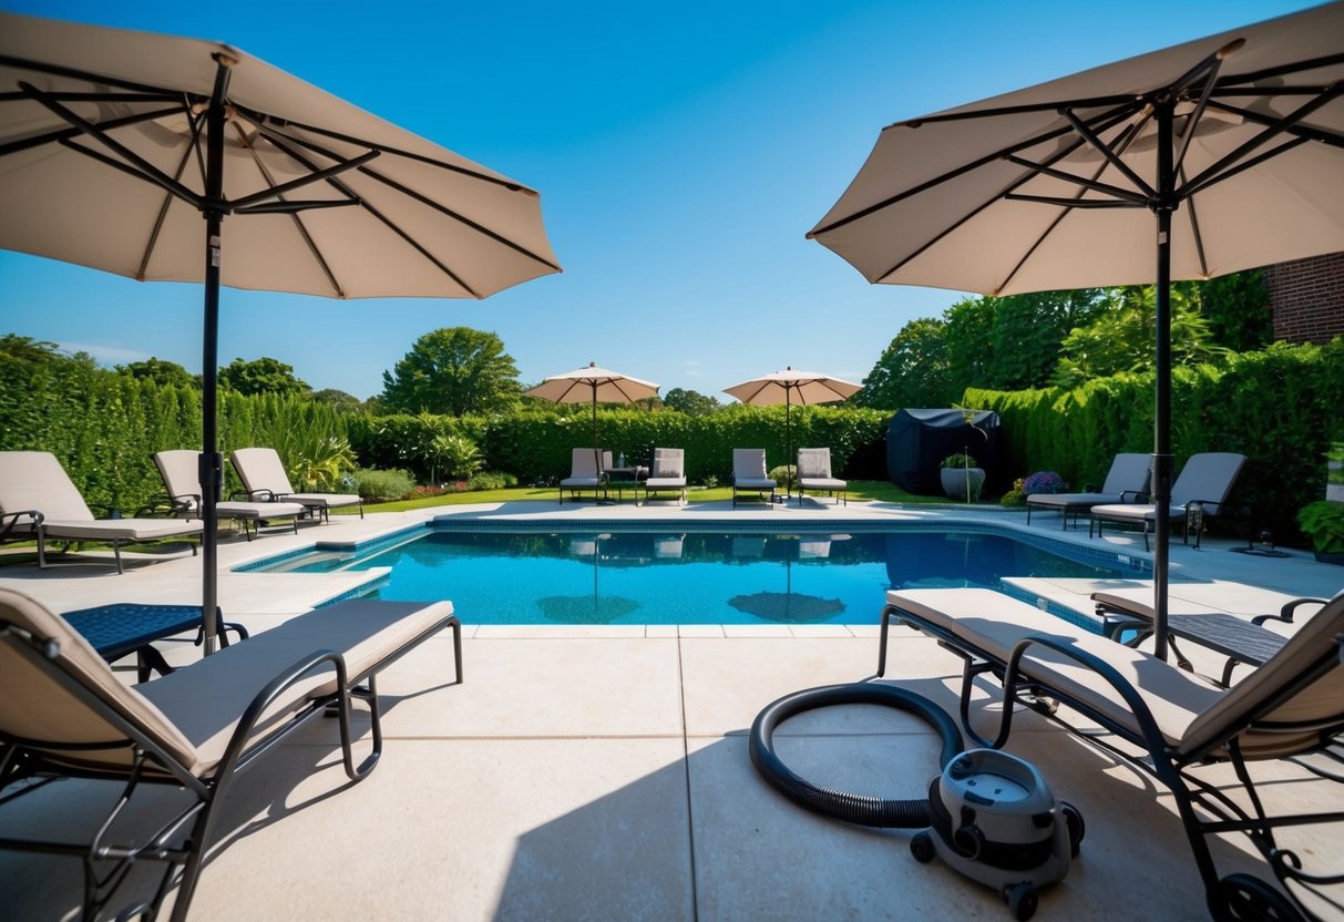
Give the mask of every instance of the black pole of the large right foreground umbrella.
M 1172 212 L 1176 210 L 1173 191 L 1176 169 L 1172 163 L 1172 120 L 1175 103 L 1164 99 L 1157 105 L 1157 286 L 1154 290 L 1154 378 L 1153 406 L 1153 655 L 1167 659 L 1167 589 L 1168 559 L 1171 554 L 1172 499 L 1172 317 L 1171 317 L 1171 261 Z

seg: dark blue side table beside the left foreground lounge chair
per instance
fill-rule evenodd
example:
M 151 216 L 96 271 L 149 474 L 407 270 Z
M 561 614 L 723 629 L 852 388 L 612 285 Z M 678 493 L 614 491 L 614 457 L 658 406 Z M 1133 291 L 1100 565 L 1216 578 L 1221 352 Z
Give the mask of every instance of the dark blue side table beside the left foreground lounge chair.
M 200 629 L 199 605 L 137 605 L 128 602 L 79 609 L 60 617 L 83 634 L 98 656 L 108 663 L 134 653 L 137 681 L 148 681 L 151 671 L 161 676 L 172 672 L 172 667 L 164 660 L 163 653 L 153 648 L 153 641 Z M 224 624 L 223 614 L 218 607 L 215 618 L 220 646 L 228 646 L 228 630 L 237 632 L 239 640 L 247 637 L 247 629 L 242 625 Z M 196 642 L 200 642 L 199 636 Z

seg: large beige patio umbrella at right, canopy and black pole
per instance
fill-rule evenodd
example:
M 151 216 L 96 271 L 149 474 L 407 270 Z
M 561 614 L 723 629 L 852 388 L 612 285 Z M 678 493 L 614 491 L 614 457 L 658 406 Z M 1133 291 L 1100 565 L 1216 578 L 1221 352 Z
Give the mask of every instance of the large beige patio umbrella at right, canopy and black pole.
M 1344 4 L 884 129 L 809 237 L 871 282 L 1156 284 L 1153 562 L 1167 649 L 1172 278 L 1344 250 Z

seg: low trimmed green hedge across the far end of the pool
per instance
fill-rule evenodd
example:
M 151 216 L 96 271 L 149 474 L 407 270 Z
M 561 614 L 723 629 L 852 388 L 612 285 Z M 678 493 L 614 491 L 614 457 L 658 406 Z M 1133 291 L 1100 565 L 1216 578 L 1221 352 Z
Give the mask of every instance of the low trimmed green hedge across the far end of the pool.
M 882 410 L 794 407 L 789 414 L 794 449 L 831 448 L 837 476 L 883 478 L 883 445 L 890 414 Z M 687 477 L 726 483 L 734 448 L 763 448 L 769 466 L 785 464 L 785 409 L 734 407 L 703 417 L 672 410 L 599 409 L 597 439 L 628 464 L 648 465 L 655 448 L 685 450 Z M 570 453 L 593 445 L 593 415 L 587 407 L 567 414 L 523 410 L 495 417 L 434 417 L 422 414 L 355 417 L 349 439 L 360 464 L 407 468 L 427 480 L 426 456 L 435 435 L 464 435 L 485 454 L 487 468 L 517 476 L 524 484 L 555 483 L 570 473 Z

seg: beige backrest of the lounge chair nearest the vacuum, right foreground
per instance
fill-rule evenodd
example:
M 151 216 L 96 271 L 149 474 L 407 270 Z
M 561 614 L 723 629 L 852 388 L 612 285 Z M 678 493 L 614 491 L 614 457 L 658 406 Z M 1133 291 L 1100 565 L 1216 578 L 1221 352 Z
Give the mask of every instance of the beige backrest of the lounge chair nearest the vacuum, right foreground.
M 1313 614 L 1265 665 L 1195 718 L 1181 751 L 1203 754 L 1236 738 L 1247 758 L 1320 747 L 1344 728 L 1344 591 Z

